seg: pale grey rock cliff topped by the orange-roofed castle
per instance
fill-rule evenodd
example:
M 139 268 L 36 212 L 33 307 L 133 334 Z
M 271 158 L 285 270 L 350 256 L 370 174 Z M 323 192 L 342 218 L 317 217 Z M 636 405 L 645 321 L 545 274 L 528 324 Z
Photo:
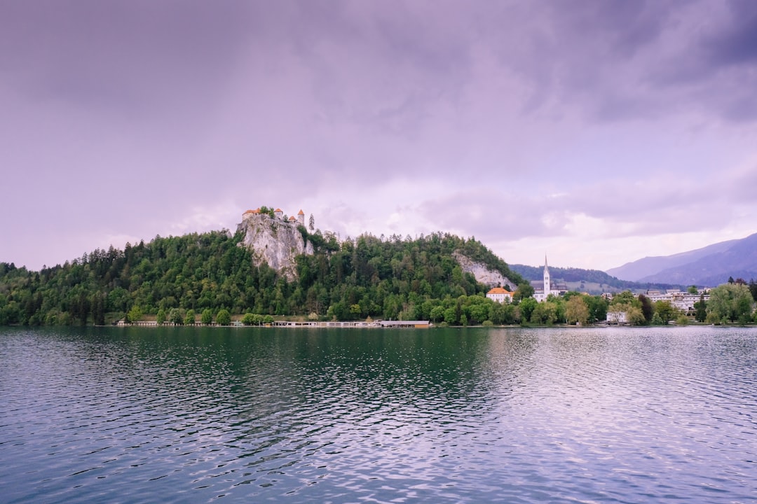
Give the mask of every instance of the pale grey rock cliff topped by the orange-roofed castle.
M 297 225 L 268 215 L 245 218 L 237 226 L 237 232 L 240 231 L 245 233 L 245 237 L 239 246 L 250 249 L 254 264 L 260 266 L 267 262 L 287 280 L 297 277 L 294 258 L 301 254 L 313 254 L 313 245 L 303 239 Z

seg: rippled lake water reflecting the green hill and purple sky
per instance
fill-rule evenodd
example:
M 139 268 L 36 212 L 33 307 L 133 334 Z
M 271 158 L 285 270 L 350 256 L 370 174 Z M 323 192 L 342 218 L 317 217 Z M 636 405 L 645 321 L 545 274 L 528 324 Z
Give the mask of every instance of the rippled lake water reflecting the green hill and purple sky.
M 757 329 L 0 329 L 2 502 L 757 502 Z

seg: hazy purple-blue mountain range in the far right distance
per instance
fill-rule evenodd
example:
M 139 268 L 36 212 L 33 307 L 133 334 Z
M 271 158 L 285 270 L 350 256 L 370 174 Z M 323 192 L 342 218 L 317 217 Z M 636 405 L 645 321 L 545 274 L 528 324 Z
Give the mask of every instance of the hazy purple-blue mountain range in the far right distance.
M 607 270 L 607 274 L 639 283 L 718 286 L 728 277 L 757 278 L 757 233 L 681 252 L 645 257 Z

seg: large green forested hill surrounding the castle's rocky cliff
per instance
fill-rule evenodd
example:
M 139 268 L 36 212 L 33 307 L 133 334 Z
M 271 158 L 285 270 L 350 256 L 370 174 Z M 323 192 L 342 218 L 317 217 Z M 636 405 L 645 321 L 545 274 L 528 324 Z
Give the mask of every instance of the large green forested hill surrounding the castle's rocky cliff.
M 266 264 L 254 267 L 251 252 L 238 246 L 242 239 L 226 230 L 155 237 L 123 250 L 97 249 L 42 271 L 0 263 L 0 324 L 103 324 L 126 314 L 222 309 L 428 320 L 431 309 L 450 308 L 460 296 L 487 289 L 463 273 L 455 251 L 523 281 L 478 241 L 449 234 L 417 240 L 366 235 L 344 243 L 316 239 L 313 255 L 298 256 L 298 275 L 291 281 Z

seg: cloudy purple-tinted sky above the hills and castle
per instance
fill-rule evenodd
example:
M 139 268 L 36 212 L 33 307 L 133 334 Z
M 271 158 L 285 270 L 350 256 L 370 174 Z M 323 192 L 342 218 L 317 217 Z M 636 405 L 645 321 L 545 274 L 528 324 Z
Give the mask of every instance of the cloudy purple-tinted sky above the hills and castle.
M 606 270 L 757 232 L 757 2 L 0 0 L 0 261 L 235 230 Z

